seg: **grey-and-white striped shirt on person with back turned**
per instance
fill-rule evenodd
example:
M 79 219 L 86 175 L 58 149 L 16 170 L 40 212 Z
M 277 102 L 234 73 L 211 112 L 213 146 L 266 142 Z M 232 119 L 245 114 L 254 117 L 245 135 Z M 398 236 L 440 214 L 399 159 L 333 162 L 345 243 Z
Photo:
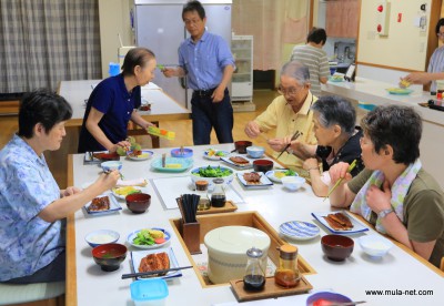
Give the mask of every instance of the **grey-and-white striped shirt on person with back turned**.
M 310 82 L 312 83 L 310 91 L 314 95 L 321 96 L 320 78 L 330 76 L 329 60 L 325 51 L 310 44 L 296 45 L 293 48 L 291 61 L 299 61 L 309 68 Z

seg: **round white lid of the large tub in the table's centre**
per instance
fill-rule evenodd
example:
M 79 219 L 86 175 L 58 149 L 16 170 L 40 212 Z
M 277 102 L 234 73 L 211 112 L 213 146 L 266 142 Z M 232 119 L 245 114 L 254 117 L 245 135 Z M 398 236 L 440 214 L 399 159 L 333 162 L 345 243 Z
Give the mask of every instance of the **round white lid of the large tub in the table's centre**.
M 249 226 L 223 226 L 206 233 L 208 248 L 225 254 L 246 254 L 251 247 L 262 251 L 270 247 L 270 237 L 264 232 Z

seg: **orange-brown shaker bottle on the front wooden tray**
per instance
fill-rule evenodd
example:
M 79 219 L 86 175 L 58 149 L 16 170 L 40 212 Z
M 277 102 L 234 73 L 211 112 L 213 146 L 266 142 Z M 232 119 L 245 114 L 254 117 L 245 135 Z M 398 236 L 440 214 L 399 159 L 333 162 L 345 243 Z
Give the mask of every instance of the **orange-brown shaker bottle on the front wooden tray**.
M 274 283 L 291 288 L 297 286 L 301 274 L 297 269 L 297 247 L 284 244 L 280 247 L 279 267 L 274 273 Z

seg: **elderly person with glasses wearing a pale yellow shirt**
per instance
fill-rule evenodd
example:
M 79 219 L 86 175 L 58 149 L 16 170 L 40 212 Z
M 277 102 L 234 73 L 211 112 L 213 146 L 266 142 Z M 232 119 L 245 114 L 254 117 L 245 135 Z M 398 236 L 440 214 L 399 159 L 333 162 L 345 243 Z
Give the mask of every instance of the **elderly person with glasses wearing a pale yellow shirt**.
M 275 139 L 268 140 L 271 149 L 276 151 L 273 157 L 286 166 L 302 167 L 302 161 L 289 153 L 280 154 L 286 143 L 284 137 L 294 135 L 299 131 L 299 140 L 303 143 L 315 144 L 313 133 L 313 112 L 310 106 L 317 100 L 310 92 L 310 72 L 304 64 L 291 61 L 281 69 L 280 96 L 275 98 L 266 110 L 253 121 L 250 121 L 244 129 L 245 134 L 258 137 L 275 129 Z

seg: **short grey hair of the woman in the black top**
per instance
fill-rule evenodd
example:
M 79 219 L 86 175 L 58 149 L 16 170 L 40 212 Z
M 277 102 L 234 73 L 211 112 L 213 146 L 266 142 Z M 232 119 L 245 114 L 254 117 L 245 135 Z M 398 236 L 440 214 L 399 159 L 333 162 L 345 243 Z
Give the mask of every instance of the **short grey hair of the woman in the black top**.
M 356 111 L 349 100 L 337 95 L 321 96 L 312 106 L 319 114 L 319 123 L 323 128 L 334 124 L 341 126 L 342 133 L 353 135 L 356 123 Z

